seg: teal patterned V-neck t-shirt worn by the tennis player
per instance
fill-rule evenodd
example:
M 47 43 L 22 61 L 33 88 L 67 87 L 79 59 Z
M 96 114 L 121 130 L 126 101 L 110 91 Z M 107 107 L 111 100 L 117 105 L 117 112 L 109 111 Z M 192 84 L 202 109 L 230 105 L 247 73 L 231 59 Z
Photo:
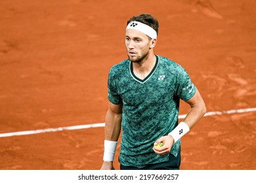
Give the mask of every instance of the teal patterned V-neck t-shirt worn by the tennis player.
M 156 56 L 156 65 L 144 80 L 134 75 L 129 59 L 114 65 L 108 76 L 108 100 L 123 103 L 120 163 L 144 167 L 167 161 L 168 154 L 152 150 L 154 142 L 178 125 L 179 101 L 194 93 L 188 73 L 170 59 Z M 175 142 L 170 153 L 177 156 L 180 144 Z

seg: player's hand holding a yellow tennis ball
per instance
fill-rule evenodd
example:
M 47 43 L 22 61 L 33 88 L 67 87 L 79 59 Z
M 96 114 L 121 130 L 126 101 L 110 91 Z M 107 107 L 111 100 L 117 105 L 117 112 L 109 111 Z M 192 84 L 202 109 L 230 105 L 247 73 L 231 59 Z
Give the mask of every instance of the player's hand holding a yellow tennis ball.
M 155 145 L 157 145 L 160 142 L 163 142 L 164 145 L 161 146 L 160 148 L 156 147 Z M 153 150 L 154 150 L 154 152 L 156 152 L 156 154 L 159 154 L 161 156 L 163 154 L 169 154 L 169 152 L 171 151 L 171 148 L 173 146 L 173 143 L 174 143 L 174 139 L 173 139 L 173 137 L 171 137 L 171 135 L 163 136 L 154 143 Z

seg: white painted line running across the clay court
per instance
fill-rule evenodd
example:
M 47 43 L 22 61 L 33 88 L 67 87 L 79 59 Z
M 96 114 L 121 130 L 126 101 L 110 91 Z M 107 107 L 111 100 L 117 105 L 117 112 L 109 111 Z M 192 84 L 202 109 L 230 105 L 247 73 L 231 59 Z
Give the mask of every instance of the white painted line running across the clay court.
M 215 115 L 222 115 L 222 114 L 234 114 L 234 113 L 245 113 L 245 112 L 255 112 L 255 111 L 256 111 L 256 107 L 240 108 L 240 109 L 233 109 L 233 110 L 206 112 L 204 116 L 215 116 Z M 179 119 L 184 119 L 185 117 L 186 117 L 186 114 L 179 115 Z M 47 132 L 65 131 L 65 130 L 74 130 L 74 129 L 87 129 L 87 128 L 92 128 L 92 127 L 104 127 L 104 126 L 105 126 L 105 123 L 100 123 L 100 124 L 56 127 L 56 128 L 48 128 L 48 129 L 35 129 L 35 130 L 29 130 L 29 131 L 16 131 L 16 132 L 11 132 L 11 133 L 0 133 L 0 138 L 1 137 L 20 136 L 20 135 L 33 135 L 33 134 L 37 134 L 37 133 L 47 133 Z

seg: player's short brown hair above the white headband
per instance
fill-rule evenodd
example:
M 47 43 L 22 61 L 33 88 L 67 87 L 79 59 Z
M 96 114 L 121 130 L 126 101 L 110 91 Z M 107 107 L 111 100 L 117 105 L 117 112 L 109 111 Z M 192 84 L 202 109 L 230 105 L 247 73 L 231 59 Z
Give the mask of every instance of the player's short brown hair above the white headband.
M 154 16 L 152 16 L 151 14 L 139 14 L 137 16 L 133 16 L 132 18 L 130 18 L 130 20 L 127 21 L 127 25 L 133 21 L 138 21 L 152 27 L 158 34 L 158 20 L 154 18 Z

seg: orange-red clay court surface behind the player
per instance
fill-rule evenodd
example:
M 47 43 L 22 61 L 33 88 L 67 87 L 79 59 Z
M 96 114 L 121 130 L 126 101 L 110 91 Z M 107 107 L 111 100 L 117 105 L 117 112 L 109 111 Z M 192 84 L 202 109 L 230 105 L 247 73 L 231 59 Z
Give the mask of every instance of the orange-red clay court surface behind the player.
M 160 22 L 155 53 L 181 64 L 207 105 L 208 116 L 182 137 L 181 169 L 255 169 L 255 7 L 253 0 L 1 1 L 0 169 L 100 169 L 108 71 L 127 58 L 127 20 L 145 12 Z M 181 102 L 180 114 L 188 110 Z M 101 125 L 16 133 L 87 124 Z

